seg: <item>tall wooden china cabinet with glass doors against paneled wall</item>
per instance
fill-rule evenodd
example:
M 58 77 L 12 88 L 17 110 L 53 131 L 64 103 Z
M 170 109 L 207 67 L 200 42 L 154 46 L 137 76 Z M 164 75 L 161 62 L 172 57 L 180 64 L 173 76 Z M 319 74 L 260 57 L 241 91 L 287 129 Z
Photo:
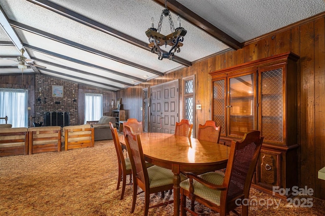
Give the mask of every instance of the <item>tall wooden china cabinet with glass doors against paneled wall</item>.
M 231 145 L 245 132 L 264 136 L 252 186 L 272 194 L 273 187 L 298 186 L 297 60 L 293 53 L 210 72 L 212 119 L 220 140 Z

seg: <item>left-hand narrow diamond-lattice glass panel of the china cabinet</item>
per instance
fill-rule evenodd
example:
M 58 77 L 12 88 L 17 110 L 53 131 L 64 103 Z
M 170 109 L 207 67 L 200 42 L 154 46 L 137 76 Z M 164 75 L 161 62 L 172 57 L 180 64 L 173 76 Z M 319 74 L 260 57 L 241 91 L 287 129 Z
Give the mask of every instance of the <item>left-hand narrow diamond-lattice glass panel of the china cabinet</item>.
M 224 80 L 213 82 L 213 121 L 217 126 L 221 126 L 221 134 L 225 134 L 225 114 L 224 114 Z

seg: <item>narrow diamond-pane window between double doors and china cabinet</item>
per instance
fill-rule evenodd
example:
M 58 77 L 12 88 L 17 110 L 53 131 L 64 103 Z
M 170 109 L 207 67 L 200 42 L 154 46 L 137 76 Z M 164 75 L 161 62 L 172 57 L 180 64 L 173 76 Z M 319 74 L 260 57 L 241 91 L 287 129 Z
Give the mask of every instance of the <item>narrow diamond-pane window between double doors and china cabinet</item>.
M 183 78 L 184 80 L 184 118 L 193 124 L 194 118 L 194 76 Z M 195 127 L 193 124 L 192 137 L 194 137 Z

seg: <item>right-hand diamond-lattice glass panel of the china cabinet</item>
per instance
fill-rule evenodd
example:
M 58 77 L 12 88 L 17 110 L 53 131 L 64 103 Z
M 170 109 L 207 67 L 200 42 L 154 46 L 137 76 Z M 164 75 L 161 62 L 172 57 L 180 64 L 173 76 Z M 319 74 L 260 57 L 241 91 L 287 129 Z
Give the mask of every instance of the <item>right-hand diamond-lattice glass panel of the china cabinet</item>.
M 262 73 L 262 136 L 283 142 L 282 68 Z

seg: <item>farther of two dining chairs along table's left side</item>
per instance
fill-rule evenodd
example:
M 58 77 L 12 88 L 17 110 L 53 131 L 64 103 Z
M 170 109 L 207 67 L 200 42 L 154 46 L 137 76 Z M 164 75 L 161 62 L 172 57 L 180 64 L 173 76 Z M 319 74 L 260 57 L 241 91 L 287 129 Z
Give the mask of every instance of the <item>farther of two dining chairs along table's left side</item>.
M 124 158 L 122 147 L 120 140 L 118 138 L 117 129 L 114 128 L 113 123 L 109 122 L 110 129 L 113 136 L 114 146 L 116 150 L 117 155 L 117 161 L 118 161 L 118 178 L 117 178 L 117 187 L 116 190 L 120 187 L 120 182 L 122 181 L 122 192 L 121 192 L 121 198 L 123 199 L 124 192 L 125 192 L 125 186 L 126 185 L 132 185 L 132 168 L 131 168 L 131 162 L 129 158 Z M 130 177 L 130 183 L 126 184 L 126 176 L 129 175 Z

